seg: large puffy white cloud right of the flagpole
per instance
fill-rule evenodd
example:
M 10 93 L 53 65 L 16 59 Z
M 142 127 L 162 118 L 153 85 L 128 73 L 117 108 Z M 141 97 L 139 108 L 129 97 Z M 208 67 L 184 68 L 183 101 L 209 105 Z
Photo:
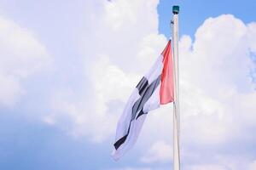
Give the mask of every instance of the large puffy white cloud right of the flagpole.
M 238 135 L 245 112 L 251 122 L 256 121 L 256 108 L 250 101 L 256 95 L 249 74 L 255 68 L 249 56 L 255 42 L 248 38 L 253 37 L 252 26 L 232 15 L 221 15 L 204 22 L 195 42 L 188 36 L 181 38 L 184 141 L 222 144 Z

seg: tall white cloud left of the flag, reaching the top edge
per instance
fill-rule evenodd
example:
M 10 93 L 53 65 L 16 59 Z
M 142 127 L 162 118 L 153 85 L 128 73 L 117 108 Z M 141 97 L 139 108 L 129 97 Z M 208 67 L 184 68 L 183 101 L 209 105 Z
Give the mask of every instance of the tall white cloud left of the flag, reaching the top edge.
M 90 94 L 75 99 L 78 89 L 61 88 L 44 122 L 102 142 L 114 135 L 126 99 L 160 54 L 166 37 L 158 34 L 158 1 L 87 3 L 83 48 Z M 68 120 L 65 126 L 63 117 Z

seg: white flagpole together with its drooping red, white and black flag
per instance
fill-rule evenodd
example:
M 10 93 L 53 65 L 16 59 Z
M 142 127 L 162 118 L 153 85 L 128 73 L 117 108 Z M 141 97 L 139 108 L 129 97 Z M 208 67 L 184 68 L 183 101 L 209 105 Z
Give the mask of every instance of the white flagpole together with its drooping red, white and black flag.
M 119 118 L 113 159 L 118 160 L 136 143 L 148 111 L 153 111 L 168 103 L 173 103 L 173 169 L 179 170 L 179 95 L 178 95 L 178 12 L 179 7 L 173 6 L 172 42 L 156 59 L 152 68 L 138 82 L 128 99 L 122 116 Z

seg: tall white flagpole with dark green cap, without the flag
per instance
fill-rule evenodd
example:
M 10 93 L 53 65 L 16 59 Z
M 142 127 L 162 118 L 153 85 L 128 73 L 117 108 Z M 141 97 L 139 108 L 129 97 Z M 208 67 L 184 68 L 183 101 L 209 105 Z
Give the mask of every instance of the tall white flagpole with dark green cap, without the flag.
M 172 7 L 173 13 L 173 63 L 174 63 L 174 105 L 173 105 L 173 170 L 180 169 L 179 156 L 179 80 L 178 80 L 178 13 L 179 6 Z

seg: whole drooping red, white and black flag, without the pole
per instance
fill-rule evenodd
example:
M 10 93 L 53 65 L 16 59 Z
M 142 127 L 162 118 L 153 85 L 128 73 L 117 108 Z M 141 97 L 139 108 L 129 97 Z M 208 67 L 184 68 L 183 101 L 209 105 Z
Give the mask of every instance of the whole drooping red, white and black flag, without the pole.
M 122 116 L 119 118 L 113 159 L 118 160 L 135 144 L 148 114 L 174 99 L 171 40 L 155 61 L 153 67 L 133 90 Z

